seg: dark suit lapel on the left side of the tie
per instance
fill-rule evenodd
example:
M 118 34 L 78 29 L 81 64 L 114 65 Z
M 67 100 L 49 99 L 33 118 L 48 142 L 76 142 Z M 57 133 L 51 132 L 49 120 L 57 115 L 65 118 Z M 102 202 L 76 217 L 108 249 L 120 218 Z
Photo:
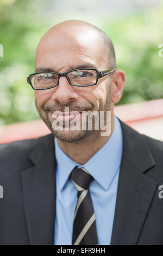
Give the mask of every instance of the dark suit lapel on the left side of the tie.
M 52 134 L 37 140 L 29 159 L 34 166 L 21 174 L 29 241 L 31 245 L 53 245 L 56 163 Z

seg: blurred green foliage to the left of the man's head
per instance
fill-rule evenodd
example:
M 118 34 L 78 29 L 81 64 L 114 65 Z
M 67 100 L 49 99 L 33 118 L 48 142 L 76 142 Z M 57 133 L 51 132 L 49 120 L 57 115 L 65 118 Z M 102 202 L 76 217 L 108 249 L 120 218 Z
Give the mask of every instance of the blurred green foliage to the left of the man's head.
M 33 13 L 32 1 L 0 0 L 0 125 L 39 117 L 26 77 L 34 70 L 35 48 L 47 26 Z

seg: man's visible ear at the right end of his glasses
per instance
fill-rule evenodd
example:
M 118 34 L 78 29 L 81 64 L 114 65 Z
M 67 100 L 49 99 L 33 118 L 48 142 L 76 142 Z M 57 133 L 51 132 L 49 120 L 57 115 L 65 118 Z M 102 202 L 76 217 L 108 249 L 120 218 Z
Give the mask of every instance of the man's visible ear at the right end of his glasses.
M 112 74 L 112 94 L 111 94 L 111 101 L 113 103 L 117 103 L 120 101 L 123 88 L 125 83 L 125 74 L 122 70 L 116 70 Z

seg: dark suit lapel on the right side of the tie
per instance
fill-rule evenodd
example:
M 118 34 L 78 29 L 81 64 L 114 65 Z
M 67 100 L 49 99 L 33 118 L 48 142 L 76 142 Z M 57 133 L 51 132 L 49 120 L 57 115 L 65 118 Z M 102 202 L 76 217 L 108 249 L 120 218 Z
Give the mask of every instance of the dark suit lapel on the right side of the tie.
M 123 153 L 111 245 L 135 245 L 157 186 L 144 172 L 155 162 L 144 137 L 120 122 Z

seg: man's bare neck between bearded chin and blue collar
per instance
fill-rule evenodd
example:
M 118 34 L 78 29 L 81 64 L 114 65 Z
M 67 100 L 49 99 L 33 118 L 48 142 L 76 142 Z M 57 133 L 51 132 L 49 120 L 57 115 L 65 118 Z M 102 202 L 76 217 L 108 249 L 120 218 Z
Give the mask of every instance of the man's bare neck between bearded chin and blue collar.
M 78 142 L 64 142 L 57 138 L 59 147 L 73 161 L 85 164 L 108 141 L 114 130 L 114 113 L 111 113 L 111 132 L 109 136 L 101 136 L 103 131 L 93 131 Z

